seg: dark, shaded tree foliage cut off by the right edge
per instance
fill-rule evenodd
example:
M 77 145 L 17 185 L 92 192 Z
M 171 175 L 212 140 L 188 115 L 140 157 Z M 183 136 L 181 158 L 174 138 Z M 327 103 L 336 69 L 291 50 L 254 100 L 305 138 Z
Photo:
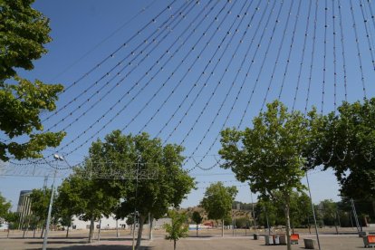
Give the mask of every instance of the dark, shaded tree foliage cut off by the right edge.
M 375 200 L 375 98 L 344 101 L 338 111 L 322 119 L 315 166 L 333 168 L 342 196 Z

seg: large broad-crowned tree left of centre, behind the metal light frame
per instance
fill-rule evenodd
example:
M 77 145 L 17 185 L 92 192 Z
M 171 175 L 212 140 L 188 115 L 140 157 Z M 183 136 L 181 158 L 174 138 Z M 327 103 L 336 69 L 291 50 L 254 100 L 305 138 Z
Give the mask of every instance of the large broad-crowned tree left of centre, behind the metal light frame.
M 105 141 L 98 140 L 91 145 L 90 159 L 94 168 L 127 173 L 130 178 L 127 181 L 112 180 L 107 189 L 108 194 L 122 199 L 116 216 L 126 217 L 135 210 L 139 212 L 136 248 L 140 245 L 143 225 L 149 213 L 151 218 L 164 216 L 168 207 L 178 207 L 195 186 L 194 179 L 182 169 L 182 151 L 181 146 L 163 146 L 160 139 L 150 139 L 147 133 L 122 135 L 120 130 L 111 132 Z M 95 164 L 99 166 L 95 167 Z M 138 178 L 139 173 L 147 176 L 155 171 L 158 178 Z

